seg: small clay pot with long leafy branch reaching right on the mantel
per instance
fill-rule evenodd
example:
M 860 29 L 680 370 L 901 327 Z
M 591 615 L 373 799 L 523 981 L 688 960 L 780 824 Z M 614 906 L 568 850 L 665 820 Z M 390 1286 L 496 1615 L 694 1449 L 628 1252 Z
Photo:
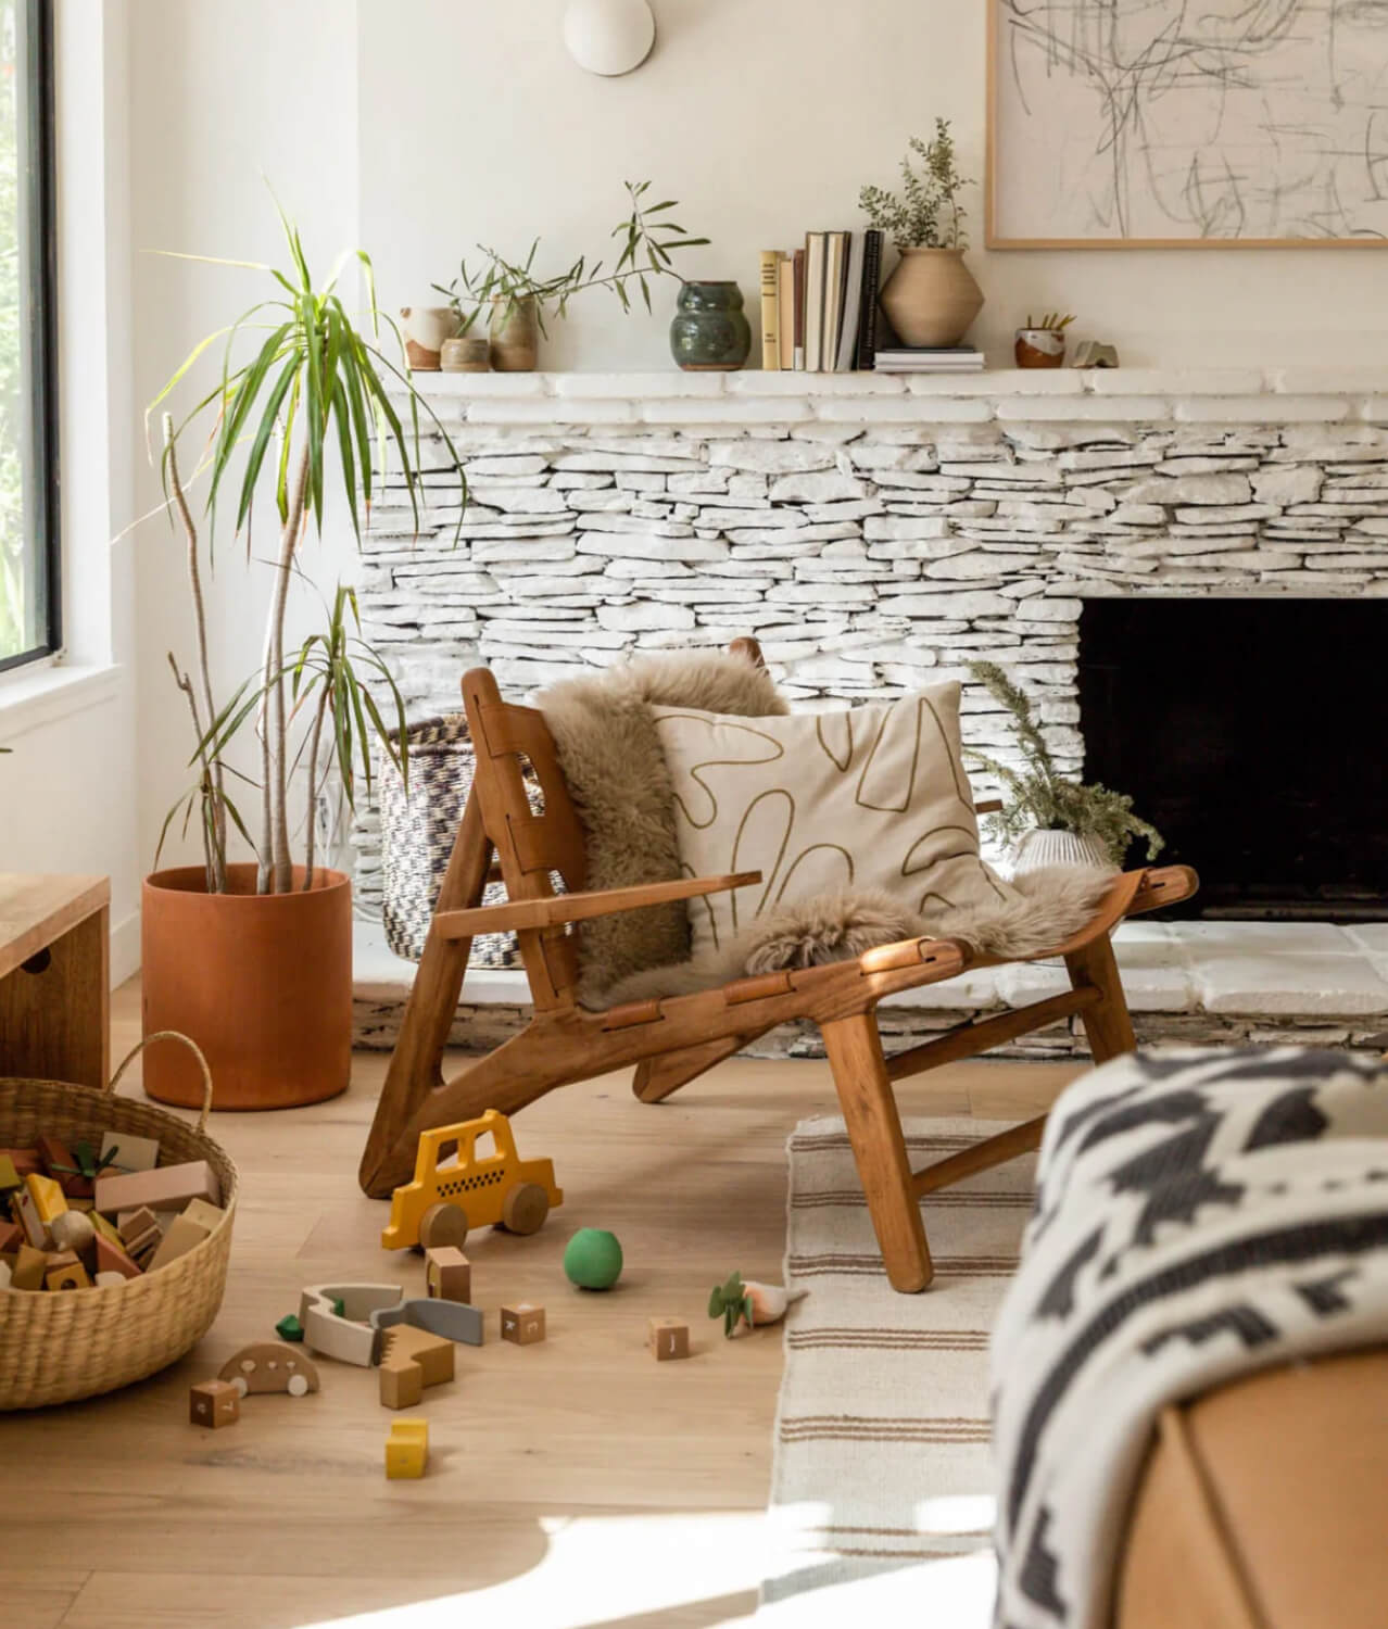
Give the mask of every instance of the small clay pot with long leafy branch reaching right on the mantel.
M 474 270 L 463 261 L 451 283 L 433 285 L 441 295 L 448 295 L 458 318 L 458 337 L 487 311 L 492 367 L 502 373 L 529 373 L 538 360 L 541 336 L 549 337 L 544 326 L 546 308 L 554 306 L 560 316 L 567 316 L 569 301 L 575 295 L 588 288 L 611 288 L 622 310 L 630 311 L 627 283 L 635 279 L 650 311 L 652 277 L 678 277 L 683 283 L 671 254 L 699 248 L 709 239 L 686 236 L 684 228 L 671 220 L 666 212 L 676 207 L 674 199 L 648 204 L 648 181 L 627 181 L 626 189 L 630 215 L 613 226 L 611 236 L 622 241 L 622 249 L 609 272 L 603 270 L 603 261 L 590 262 L 580 254 L 567 270 L 542 277 L 534 269 L 539 238 L 531 243 L 523 261 L 507 259 L 479 243 L 481 267 Z

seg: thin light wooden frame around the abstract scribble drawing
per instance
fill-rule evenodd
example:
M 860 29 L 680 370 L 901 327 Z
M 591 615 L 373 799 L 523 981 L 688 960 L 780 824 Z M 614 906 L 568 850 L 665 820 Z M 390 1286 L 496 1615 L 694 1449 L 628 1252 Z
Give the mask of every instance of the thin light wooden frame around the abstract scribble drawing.
M 1083 8 L 1087 3 L 1098 5 L 1098 0 L 1074 0 L 1070 11 Z M 1228 7 L 1230 13 L 1245 10 L 1243 0 L 1217 0 Z M 1031 235 L 1010 230 L 1010 223 L 1002 218 L 1005 205 L 1000 200 L 999 176 L 1007 155 L 1002 129 L 1007 121 L 1004 91 L 1004 70 L 1010 55 L 1008 42 L 1004 39 L 1005 11 L 1013 10 L 1013 0 L 986 0 L 987 5 L 987 108 L 986 108 L 986 140 L 984 140 L 984 246 L 987 249 L 1377 249 L 1388 246 L 1388 117 L 1383 121 L 1383 153 L 1375 158 L 1370 137 L 1375 137 L 1372 111 L 1365 135 L 1365 168 L 1383 166 L 1383 210 L 1380 228 L 1365 226 L 1346 236 L 1324 235 L 1289 235 L 1289 236 L 1238 236 L 1227 235 L 1179 235 L 1179 236 L 1127 236 L 1127 235 Z M 1028 8 L 1028 20 L 1036 16 L 1036 8 Z M 1222 47 L 1228 49 L 1228 47 Z M 1388 37 L 1383 46 L 1383 85 L 1388 99 Z M 1375 137 L 1377 140 L 1377 137 Z M 1044 142 L 1034 143 L 1038 150 L 1052 151 Z

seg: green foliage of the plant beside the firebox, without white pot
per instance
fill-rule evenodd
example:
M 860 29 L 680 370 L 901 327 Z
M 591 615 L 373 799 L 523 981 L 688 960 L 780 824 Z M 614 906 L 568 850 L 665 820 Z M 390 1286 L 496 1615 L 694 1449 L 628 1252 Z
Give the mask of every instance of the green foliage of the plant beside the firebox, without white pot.
M 994 700 L 1012 715 L 1017 744 L 1025 767 L 1017 771 L 987 753 L 971 748 L 964 756 L 986 769 L 1002 785 L 1002 810 L 984 816 L 989 836 L 1007 845 L 1033 828 L 1072 831 L 1096 839 L 1114 865 L 1134 837 L 1147 842 L 1147 858 L 1155 860 L 1165 839 L 1145 819 L 1132 813 L 1132 798 L 1108 787 L 1067 780 L 1056 769 L 1046 736 L 1031 712 L 1031 699 L 992 661 L 971 661 L 969 673 Z

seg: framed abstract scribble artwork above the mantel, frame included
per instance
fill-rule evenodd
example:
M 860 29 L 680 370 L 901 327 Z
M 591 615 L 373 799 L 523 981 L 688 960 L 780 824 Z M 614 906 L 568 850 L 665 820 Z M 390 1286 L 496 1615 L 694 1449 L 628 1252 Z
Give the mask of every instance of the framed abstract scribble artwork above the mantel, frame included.
M 987 0 L 990 249 L 1388 243 L 1388 0 Z

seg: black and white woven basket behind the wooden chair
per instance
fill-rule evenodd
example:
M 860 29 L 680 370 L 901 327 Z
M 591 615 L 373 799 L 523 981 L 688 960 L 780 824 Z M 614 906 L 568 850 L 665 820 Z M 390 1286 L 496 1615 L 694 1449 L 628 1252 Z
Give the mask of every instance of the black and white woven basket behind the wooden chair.
M 463 805 L 472 787 L 472 738 L 461 714 L 427 718 L 406 730 L 409 743 L 409 793 L 401 774 L 384 754 L 380 775 L 383 920 L 386 943 L 398 956 L 419 961 L 428 922 L 453 854 Z M 539 795 L 534 771 L 523 766 L 531 803 Z M 482 904 L 505 901 L 500 883 L 490 883 Z M 472 968 L 518 968 L 515 933 L 479 933 L 468 958 Z

